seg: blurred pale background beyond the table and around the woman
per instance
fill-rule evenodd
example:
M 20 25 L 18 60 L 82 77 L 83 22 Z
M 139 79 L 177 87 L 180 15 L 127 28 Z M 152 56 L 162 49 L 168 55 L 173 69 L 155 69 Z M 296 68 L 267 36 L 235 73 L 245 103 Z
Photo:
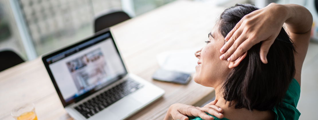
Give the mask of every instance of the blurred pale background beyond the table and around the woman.
M 0 0 L 0 50 L 15 51 L 24 61 L 65 47 L 94 33 L 101 14 L 122 10 L 133 18 L 175 0 Z M 193 0 L 224 8 L 252 3 L 305 6 L 313 15 L 311 43 L 302 69 L 300 119 L 317 119 L 318 104 L 318 0 Z

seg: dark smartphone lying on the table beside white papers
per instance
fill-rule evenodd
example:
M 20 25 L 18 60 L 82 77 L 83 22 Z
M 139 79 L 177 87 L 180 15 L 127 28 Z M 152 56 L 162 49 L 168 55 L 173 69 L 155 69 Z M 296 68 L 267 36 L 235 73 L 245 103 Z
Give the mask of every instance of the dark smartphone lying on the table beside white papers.
M 179 84 L 187 84 L 191 80 L 190 74 L 177 72 L 177 71 L 164 70 L 161 68 L 156 70 L 152 78 L 155 80 L 179 83 Z

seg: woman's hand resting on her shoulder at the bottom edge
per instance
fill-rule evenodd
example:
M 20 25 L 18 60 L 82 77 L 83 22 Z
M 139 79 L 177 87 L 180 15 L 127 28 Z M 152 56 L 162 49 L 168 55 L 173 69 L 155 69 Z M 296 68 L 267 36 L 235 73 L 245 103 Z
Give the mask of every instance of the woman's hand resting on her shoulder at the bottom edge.
M 164 117 L 164 120 L 188 120 L 187 116 L 201 117 L 204 120 L 214 119 L 213 117 L 207 115 L 204 112 L 207 112 L 221 119 L 223 118 L 223 110 L 215 105 L 217 101 L 218 100 L 214 100 L 202 108 L 185 105 L 181 103 L 173 104 L 169 107 L 167 114 Z

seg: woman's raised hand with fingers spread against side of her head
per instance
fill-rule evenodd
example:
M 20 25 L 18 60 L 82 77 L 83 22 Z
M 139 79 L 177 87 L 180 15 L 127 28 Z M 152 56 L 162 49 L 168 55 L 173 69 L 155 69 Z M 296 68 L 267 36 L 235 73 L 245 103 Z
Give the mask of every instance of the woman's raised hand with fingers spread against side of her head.
M 271 3 L 245 15 L 225 37 L 227 42 L 220 49 L 224 53 L 220 59 L 234 61 L 253 45 L 262 42 L 260 59 L 267 63 L 266 55 L 287 19 L 286 13 L 283 5 Z

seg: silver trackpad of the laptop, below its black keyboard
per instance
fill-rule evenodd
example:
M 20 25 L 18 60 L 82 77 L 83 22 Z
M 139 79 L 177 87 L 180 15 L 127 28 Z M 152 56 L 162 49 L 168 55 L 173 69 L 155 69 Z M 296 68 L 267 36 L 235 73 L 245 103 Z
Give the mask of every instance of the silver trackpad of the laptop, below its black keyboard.
M 134 98 L 127 97 L 115 103 L 110 110 L 117 116 L 127 117 L 140 107 L 142 107 L 142 103 L 136 101 Z

